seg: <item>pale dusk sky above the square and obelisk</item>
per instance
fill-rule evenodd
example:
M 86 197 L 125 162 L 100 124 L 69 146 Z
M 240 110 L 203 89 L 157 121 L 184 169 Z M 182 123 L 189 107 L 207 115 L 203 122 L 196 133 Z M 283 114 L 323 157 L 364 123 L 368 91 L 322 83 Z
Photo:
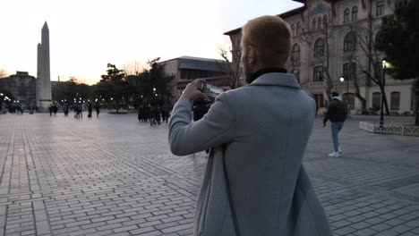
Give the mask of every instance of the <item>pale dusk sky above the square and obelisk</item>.
M 145 63 L 189 55 L 219 58 L 223 33 L 254 17 L 285 13 L 292 0 L 1 0 L 0 69 L 37 75 L 37 45 L 47 21 L 51 80 L 94 84 L 107 63 Z

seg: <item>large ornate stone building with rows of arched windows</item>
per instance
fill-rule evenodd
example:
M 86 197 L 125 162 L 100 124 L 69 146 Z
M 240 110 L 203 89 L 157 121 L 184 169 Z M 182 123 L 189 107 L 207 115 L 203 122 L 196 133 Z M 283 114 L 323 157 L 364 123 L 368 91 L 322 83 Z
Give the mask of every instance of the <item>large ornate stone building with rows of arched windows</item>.
M 393 14 L 402 0 L 295 2 L 304 5 L 278 15 L 289 23 L 294 34 L 291 55 L 286 63 L 288 72 L 295 74 L 302 89 L 316 100 L 320 108 L 325 106 L 323 83 L 329 71 L 333 90 L 345 100 L 347 97 L 352 113 L 359 113 L 362 106 L 355 97 L 355 80 L 359 95 L 366 100 L 366 109 L 381 109 L 381 90 L 367 74 L 382 79 L 381 60 L 385 55 L 374 52 L 372 45 L 382 19 Z M 232 47 L 238 50 L 241 29 L 228 31 L 225 35 L 230 37 Z M 370 41 L 365 44 L 365 40 Z M 373 58 L 371 63 L 369 58 Z M 411 113 L 415 107 L 414 80 L 393 80 L 387 74 L 385 78 L 389 110 Z

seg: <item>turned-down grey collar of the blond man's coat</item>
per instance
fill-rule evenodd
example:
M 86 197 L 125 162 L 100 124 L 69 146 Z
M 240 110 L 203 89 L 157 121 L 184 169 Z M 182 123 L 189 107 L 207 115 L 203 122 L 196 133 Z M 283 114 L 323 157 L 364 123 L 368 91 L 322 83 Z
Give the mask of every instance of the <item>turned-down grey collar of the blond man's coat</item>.
M 301 89 L 294 74 L 280 72 L 264 73 L 256 80 L 253 80 L 249 86 L 282 86 Z

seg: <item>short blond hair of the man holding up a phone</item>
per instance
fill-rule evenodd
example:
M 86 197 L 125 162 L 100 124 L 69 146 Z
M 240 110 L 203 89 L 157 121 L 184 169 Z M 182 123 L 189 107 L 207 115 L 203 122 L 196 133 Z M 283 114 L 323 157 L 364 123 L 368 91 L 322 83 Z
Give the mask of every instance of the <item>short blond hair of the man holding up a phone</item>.
M 255 46 L 265 66 L 284 66 L 291 51 L 291 29 L 279 16 L 265 15 L 242 29 L 243 46 Z

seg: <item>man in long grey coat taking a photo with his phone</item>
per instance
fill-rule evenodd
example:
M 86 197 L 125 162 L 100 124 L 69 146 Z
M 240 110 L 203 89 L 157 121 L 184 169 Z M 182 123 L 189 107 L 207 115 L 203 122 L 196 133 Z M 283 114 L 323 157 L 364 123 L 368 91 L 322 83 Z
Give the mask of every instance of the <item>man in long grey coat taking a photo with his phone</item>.
M 302 165 L 316 107 L 283 69 L 291 30 L 278 16 L 262 16 L 248 21 L 242 35 L 248 85 L 222 93 L 192 122 L 192 101 L 208 98 L 203 80 L 194 80 L 169 123 L 175 155 L 211 148 L 194 235 L 332 235 Z

